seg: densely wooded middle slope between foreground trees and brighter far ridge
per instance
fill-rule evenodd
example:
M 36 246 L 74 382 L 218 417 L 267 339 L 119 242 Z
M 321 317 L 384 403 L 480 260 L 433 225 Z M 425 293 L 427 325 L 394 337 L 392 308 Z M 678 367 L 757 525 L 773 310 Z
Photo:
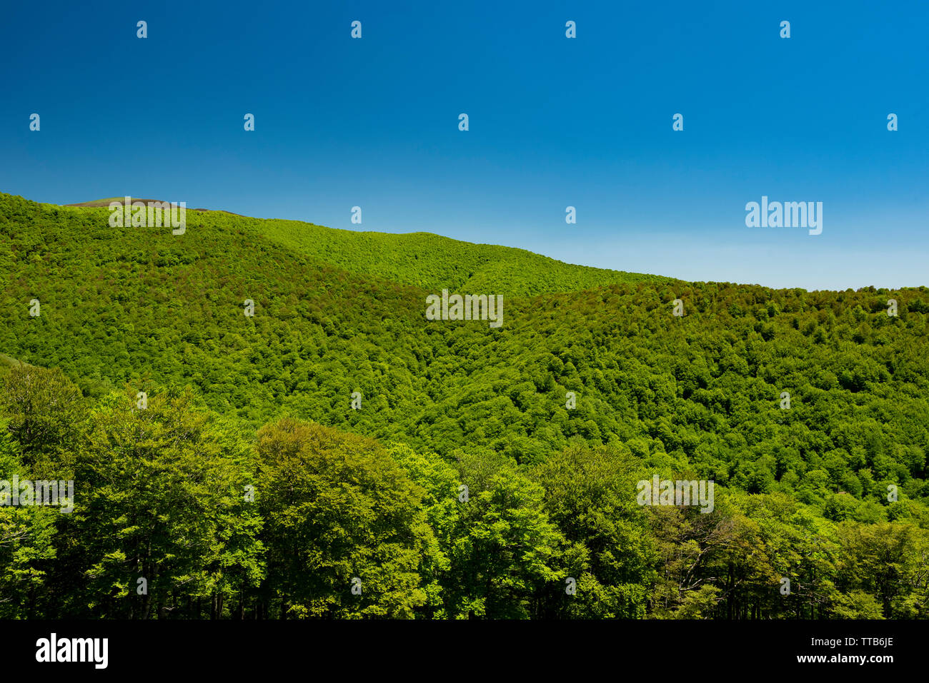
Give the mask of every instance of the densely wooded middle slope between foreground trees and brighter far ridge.
M 269 238 L 272 222 L 189 214 L 173 236 L 112 228 L 107 215 L 0 198 L 0 353 L 62 367 L 87 393 L 191 383 L 253 425 L 291 414 L 524 461 L 571 438 L 619 440 L 748 488 L 792 488 L 821 470 L 816 496 L 882 478 L 922 495 L 924 288 L 620 283 L 507 296 L 504 325 L 491 329 L 428 321 L 425 295 L 441 283 L 336 268 Z M 328 257 L 360 267 L 354 252 Z M 898 316 L 886 314 L 891 297 Z M 672 315 L 675 298 L 686 316 Z M 41 316 L 29 315 L 33 299 Z M 356 391 L 361 410 L 350 407 Z

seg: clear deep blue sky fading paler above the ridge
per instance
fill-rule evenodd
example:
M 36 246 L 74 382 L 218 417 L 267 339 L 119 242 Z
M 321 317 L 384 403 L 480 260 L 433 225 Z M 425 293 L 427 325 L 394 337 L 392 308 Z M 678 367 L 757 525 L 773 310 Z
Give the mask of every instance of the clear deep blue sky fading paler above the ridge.
M 9 3 L 0 191 L 694 280 L 929 285 L 927 26 L 922 0 Z M 822 201 L 822 234 L 746 227 L 763 195 Z

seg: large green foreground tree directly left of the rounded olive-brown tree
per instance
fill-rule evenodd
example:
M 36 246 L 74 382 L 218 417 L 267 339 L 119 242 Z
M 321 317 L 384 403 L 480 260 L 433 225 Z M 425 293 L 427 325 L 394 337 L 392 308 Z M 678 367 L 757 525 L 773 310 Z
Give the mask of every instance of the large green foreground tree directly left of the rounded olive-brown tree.
M 85 567 L 73 609 L 165 618 L 190 609 L 183 596 L 209 599 L 211 615 L 221 616 L 228 599 L 262 577 L 261 522 L 245 493 L 248 442 L 190 390 L 154 394 L 144 409 L 135 395 L 112 393 L 92 422 L 70 521 L 70 549 Z

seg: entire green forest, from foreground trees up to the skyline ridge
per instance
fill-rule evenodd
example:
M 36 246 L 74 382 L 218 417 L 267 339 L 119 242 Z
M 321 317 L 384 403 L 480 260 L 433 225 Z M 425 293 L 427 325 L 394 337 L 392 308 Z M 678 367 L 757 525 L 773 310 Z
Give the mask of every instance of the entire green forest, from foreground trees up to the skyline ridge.
M 0 618 L 929 617 L 929 289 L 108 217 L 0 194 Z

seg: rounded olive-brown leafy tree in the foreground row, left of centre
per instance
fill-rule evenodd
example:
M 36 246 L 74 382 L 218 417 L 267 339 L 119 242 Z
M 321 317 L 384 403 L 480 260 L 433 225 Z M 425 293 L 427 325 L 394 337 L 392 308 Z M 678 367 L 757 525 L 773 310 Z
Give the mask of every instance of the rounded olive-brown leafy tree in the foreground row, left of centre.
M 258 432 L 268 599 L 285 617 L 409 618 L 438 559 L 424 490 L 383 446 L 281 419 Z M 273 606 L 272 606 L 273 607 Z

